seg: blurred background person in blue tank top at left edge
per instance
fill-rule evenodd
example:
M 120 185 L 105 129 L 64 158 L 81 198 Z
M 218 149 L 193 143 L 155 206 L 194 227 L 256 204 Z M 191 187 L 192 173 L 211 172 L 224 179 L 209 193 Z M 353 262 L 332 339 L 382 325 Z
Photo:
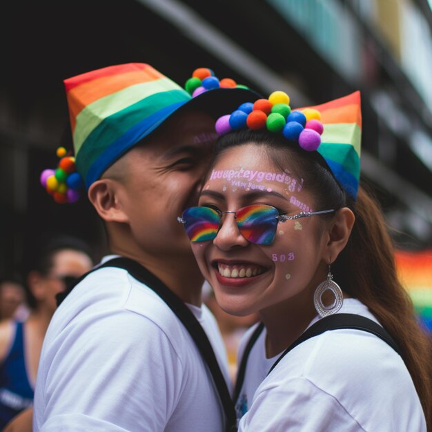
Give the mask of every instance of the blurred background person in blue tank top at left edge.
M 25 322 L 0 324 L 0 429 L 32 404 L 43 336 L 56 309 L 55 295 L 66 278 L 92 268 L 89 248 L 75 237 L 59 236 L 38 251 L 27 276 L 31 306 Z

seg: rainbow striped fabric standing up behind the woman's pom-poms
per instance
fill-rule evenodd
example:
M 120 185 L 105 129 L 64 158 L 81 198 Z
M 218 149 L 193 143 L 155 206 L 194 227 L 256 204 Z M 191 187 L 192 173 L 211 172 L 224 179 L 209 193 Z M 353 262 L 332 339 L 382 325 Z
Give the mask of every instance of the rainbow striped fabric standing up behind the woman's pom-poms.
M 304 108 L 320 111 L 324 132 L 317 152 L 324 157 L 340 185 L 353 199 L 357 199 L 362 141 L 360 91 Z

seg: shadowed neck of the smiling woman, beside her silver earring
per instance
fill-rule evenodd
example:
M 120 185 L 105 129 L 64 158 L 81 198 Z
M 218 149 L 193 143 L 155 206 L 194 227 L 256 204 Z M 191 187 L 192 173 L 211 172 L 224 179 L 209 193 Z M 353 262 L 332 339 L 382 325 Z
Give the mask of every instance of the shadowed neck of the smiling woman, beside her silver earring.
M 266 357 L 271 358 L 288 348 L 306 330 L 317 313 L 313 300 L 306 296 L 259 311 L 259 315 L 267 331 Z

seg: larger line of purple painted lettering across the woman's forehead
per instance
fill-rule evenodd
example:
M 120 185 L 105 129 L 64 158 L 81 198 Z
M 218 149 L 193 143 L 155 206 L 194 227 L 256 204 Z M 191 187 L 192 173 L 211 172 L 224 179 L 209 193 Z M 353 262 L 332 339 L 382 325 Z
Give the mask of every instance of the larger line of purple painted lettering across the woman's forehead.
M 291 192 L 293 192 L 295 188 L 297 188 L 297 192 L 300 192 L 303 187 L 303 179 L 300 179 L 299 181 L 289 174 L 291 173 L 289 173 L 288 170 L 284 170 L 284 172 L 282 173 L 271 173 L 268 171 L 258 170 L 244 170 L 244 168 L 236 170 L 212 170 L 209 180 L 226 179 L 228 181 L 233 181 L 233 186 L 239 187 L 243 187 L 240 185 L 244 185 L 252 181 L 258 183 L 261 183 L 262 181 L 277 181 L 278 183 L 286 184 L 291 190 Z M 246 180 L 246 182 L 237 179 Z M 235 185 L 234 182 L 236 183 Z

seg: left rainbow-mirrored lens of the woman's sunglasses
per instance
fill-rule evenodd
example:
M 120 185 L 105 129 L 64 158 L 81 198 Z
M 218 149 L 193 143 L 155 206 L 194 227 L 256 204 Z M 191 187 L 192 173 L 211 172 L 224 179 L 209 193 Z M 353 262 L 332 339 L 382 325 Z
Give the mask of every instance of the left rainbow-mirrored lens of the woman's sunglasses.
M 183 212 L 184 228 L 191 242 L 213 240 L 219 230 L 220 218 L 209 207 L 190 207 Z

